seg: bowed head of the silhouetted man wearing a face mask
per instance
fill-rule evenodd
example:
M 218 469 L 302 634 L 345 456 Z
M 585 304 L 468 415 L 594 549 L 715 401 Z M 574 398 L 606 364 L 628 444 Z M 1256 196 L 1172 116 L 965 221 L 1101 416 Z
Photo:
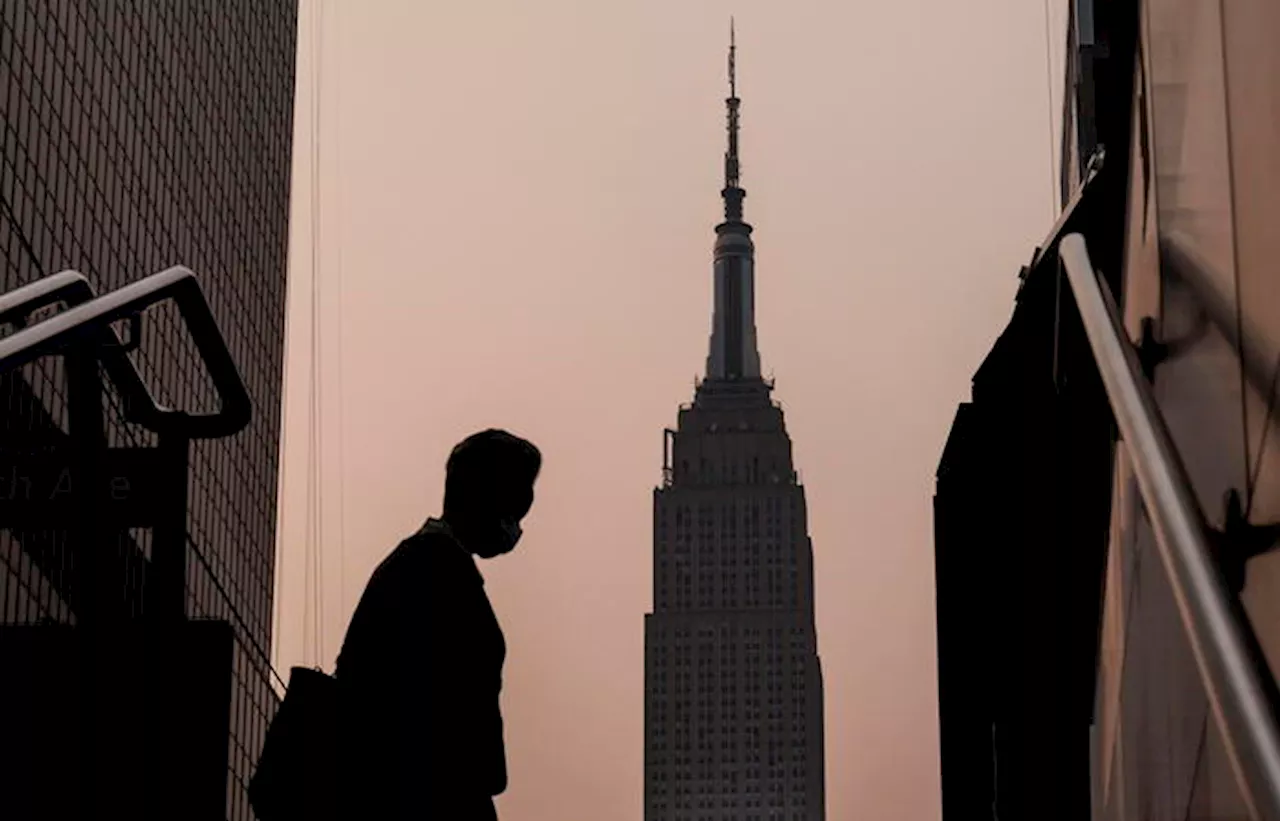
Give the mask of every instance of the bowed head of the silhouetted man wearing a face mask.
M 506 430 L 481 430 L 453 448 L 445 465 L 444 520 L 481 558 L 511 552 L 534 503 L 543 456 Z

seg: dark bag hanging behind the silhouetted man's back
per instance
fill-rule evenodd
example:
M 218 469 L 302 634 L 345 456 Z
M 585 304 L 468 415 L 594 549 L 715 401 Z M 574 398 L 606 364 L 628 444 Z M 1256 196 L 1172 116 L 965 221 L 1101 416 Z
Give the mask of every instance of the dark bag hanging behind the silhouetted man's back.
M 248 785 L 259 821 L 334 817 L 338 806 L 338 680 L 293 667 Z

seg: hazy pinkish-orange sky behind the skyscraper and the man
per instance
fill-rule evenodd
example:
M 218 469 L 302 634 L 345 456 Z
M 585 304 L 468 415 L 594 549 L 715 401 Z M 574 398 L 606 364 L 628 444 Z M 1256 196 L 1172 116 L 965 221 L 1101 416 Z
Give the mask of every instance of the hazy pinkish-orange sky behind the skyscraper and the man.
M 328 0 L 314 132 L 303 1 L 279 669 L 333 669 L 454 442 L 527 435 L 538 503 L 483 566 L 511 646 L 499 812 L 640 821 L 650 494 L 707 355 L 733 14 L 760 347 L 817 561 L 827 817 L 938 818 L 933 471 L 1053 218 L 1064 5 Z

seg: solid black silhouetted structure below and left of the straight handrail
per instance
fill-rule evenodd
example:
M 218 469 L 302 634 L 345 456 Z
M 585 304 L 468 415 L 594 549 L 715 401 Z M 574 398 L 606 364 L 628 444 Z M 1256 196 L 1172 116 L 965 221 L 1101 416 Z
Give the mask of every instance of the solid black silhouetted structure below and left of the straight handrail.
M 1056 266 L 1027 275 L 938 469 L 943 818 L 1089 813 L 1111 432 Z

